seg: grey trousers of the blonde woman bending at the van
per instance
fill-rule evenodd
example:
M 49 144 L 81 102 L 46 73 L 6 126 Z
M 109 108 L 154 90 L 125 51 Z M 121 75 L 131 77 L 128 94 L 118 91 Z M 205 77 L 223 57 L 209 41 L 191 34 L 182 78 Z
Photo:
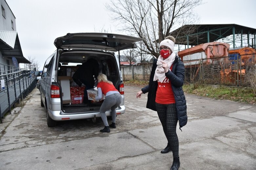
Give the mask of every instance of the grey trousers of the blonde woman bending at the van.
M 122 101 L 122 96 L 120 93 L 110 94 L 105 97 L 101 107 L 100 116 L 105 126 L 108 126 L 108 119 L 106 116 L 106 111 L 111 108 L 112 122 L 116 122 L 116 108 L 120 105 Z

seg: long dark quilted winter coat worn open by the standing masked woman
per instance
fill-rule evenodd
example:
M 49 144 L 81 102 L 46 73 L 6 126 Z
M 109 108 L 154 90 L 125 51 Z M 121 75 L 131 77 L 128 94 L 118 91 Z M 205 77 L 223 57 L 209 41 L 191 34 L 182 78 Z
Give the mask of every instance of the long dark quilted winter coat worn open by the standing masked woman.
M 157 59 L 155 59 L 153 62 L 152 70 L 149 77 L 149 84 L 141 89 L 144 94 L 148 92 L 148 101 L 146 107 L 154 111 L 156 111 L 155 99 L 158 86 L 157 81 L 153 81 L 155 70 L 157 67 L 156 62 Z M 183 62 L 178 58 L 178 56 L 175 57 L 172 71 L 169 70 L 167 73 L 165 73 L 165 75 L 171 81 L 171 87 L 176 102 L 179 125 L 180 128 L 182 128 L 187 124 L 187 105 L 185 95 L 182 90 L 185 68 Z

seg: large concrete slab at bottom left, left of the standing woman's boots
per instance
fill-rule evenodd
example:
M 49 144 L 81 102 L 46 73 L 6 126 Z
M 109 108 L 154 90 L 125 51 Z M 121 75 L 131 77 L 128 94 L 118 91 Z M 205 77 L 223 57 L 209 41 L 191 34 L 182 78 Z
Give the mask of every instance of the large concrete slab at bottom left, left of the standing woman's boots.
M 152 151 L 154 149 L 147 144 L 123 132 L 2 152 L 0 164 L 1 168 L 9 170 L 27 170 L 28 167 L 69 170 Z M 26 166 L 20 166 L 24 163 Z

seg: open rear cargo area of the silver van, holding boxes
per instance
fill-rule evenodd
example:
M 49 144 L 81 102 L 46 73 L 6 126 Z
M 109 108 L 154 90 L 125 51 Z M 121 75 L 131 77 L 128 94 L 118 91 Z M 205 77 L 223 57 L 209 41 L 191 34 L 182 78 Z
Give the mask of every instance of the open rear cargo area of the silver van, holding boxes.
M 100 110 L 103 100 L 84 104 L 85 85 L 82 84 L 80 87 L 72 79 L 75 71 L 90 58 L 98 61 L 99 73 L 106 74 L 108 80 L 113 82 L 113 85 L 119 90 L 120 74 L 113 53 L 98 50 L 63 50 L 58 59 L 57 79 L 61 86 L 61 108 L 64 113 L 84 113 Z M 95 79 L 94 87 L 96 86 L 97 81 Z

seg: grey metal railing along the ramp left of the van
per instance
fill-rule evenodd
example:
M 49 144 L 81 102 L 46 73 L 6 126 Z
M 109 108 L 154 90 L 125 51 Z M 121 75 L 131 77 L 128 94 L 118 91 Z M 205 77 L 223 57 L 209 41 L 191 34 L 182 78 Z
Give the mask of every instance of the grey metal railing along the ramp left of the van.
M 24 99 L 36 86 L 35 69 L 20 70 L 14 68 L 14 71 L 4 70 L 0 74 L 0 118 L 2 123 L 3 116 L 11 111 L 11 107 L 15 107 L 15 103 L 19 103 Z

